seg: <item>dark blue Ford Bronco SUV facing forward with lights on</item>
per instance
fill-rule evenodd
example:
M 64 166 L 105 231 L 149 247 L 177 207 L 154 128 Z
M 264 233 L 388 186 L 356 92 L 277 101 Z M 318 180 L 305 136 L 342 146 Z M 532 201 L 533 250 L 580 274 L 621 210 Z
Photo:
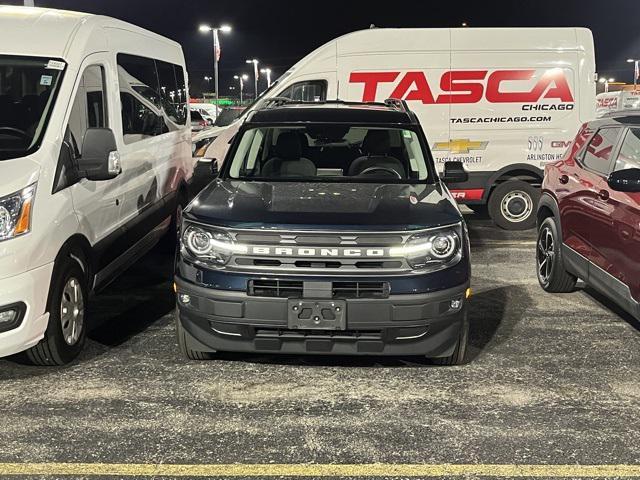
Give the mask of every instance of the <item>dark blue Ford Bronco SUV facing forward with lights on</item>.
M 460 163 L 444 180 L 464 181 Z M 469 240 L 405 102 L 276 102 L 187 207 L 178 341 L 464 361 Z

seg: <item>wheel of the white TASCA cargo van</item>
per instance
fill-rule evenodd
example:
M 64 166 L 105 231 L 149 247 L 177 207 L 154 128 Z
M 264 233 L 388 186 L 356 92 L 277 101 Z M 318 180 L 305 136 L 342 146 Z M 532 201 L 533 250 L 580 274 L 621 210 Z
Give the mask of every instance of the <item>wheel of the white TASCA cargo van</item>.
M 536 225 L 540 189 L 522 180 L 498 185 L 489 197 L 489 215 L 505 230 L 528 230 Z

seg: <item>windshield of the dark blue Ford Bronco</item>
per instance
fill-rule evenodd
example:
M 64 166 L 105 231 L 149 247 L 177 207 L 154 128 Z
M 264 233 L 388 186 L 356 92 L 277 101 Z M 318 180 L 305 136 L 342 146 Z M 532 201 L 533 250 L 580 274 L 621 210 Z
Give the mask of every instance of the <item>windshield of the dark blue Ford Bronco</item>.
M 242 180 L 417 183 L 429 180 L 416 132 L 311 124 L 246 130 L 228 176 Z

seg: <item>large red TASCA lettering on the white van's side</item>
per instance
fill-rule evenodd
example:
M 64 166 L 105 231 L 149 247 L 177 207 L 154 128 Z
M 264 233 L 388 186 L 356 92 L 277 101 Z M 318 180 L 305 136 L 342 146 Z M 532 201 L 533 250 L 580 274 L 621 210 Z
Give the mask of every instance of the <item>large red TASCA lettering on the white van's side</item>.
M 440 77 L 440 92 L 434 96 L 433 89 L 424 72 L 352 72 L 350 83 L 364 84 L 363 102 L 374 102 L 378 86 L 395 83 L 390 98 L 418 101 L 425 105 L 446 103 L 478 103 L 483 98 L 490 103 L 537 103 L 543 99 L 561 102 L 574 101 L 564 72 L 560 69 L 546 70 L 532 89 L 513 91 L 514 83 L 530 81 L 535 70 L 456 70 L 447 71 Z M 505 91 L 505 84 L 510 91 Z

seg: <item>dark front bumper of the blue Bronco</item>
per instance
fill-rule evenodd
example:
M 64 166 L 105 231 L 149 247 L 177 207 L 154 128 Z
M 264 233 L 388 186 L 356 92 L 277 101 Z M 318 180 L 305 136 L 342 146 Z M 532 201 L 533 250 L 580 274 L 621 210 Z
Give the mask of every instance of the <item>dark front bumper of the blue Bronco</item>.
M 189 348 L 334 355 L 424 355 L 453 353 L 466 316 L 468 283 L 446 290 L 388 298 L 347 299 L 345 330 L 288 327 L 288 299 L 249 296 L 194 285 L 176 278 L 178 321 Z M 182 302 L 182 295 L 189 302 Z M 459 300 L 457 308 L 451 307 Z

